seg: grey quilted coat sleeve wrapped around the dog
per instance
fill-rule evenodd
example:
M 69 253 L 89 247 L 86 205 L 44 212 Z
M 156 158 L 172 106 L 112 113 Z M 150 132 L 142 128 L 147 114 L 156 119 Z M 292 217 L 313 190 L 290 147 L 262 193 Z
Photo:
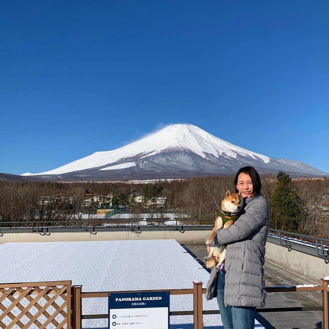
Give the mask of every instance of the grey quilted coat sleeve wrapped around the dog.
M 263 200 L 255 200 L 246 210 L 245 214 L 235 221 L 228 229 L 221 229 L 215 235 L 210 246 L 227 244 L 245 239 L 259 226 L 266 224 L 269 218 L 269 208 L 267 202 Z M 209 236 L 206 237 L 205 241 Z

